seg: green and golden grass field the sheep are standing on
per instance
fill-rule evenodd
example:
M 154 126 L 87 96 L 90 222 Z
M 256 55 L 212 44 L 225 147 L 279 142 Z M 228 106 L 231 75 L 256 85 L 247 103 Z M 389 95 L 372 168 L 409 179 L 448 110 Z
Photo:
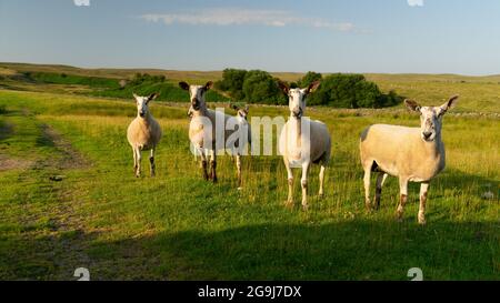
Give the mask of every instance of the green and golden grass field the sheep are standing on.
M 0 90 L 0 280 L 72 280 L 81 266 L 91 280 L 408 280 L 410 267 L 421 267 L 426 280 L 499 280 L 500 102 L 492 95 L 500 85 L 416 77 L 376 81 L 423 103 L 461 89 L 456 112 L 493 113 L 444 118 L 447 169 L 431 183 L 426 226 L 417 224 L 418 184 L 402 223 L 394 220 L 396 179 L 381 210 L 364 211 L 358 135 L 376 122 L 417 127 L 402 107 L 309 110 L 328 124 L 333 144 L 326 196 L 311 194 L 303 212 L 283 206 L 288 184 L 278 156 L 246 158 L 242 191 L 229 156 L 220 158 L 218 184 L 202 181 L 189 152 L 186 104 L 151 105 L 164 133 L 157 176 L 136 179 L 126 139 L 132 99 Z

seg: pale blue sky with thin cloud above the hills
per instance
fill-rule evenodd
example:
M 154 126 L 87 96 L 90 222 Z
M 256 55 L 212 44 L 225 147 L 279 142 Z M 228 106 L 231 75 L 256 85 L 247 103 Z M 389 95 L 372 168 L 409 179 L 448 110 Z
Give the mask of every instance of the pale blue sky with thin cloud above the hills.
M 87 1 L 0 0 L 0 61 L 500 73 L 499 0 Z

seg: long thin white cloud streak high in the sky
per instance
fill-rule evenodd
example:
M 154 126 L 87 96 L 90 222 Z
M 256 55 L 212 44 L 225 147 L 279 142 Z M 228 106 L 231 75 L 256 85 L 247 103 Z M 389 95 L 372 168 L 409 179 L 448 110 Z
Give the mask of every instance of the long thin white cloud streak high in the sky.
M 326 28 L 336 31 L 356 31 L 354 24 L 350 22 L 336 23 L 322 19 L 313 19 L 294 16 L 290 11 L 282 10 L 250 10 L 250 9 L 207 9 L 201 11 L 189 11 L 183 13 L 149 13 L 140 16 L 149 22 L 163 22 L 167 26 L 179 23 L 190 26 L 307 26 L 313 28 Z

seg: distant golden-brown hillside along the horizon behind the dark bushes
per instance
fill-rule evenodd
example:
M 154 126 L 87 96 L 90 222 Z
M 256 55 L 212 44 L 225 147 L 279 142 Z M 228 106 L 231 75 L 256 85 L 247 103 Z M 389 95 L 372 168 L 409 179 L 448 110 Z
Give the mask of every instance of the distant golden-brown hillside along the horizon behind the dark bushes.
M 164 75 L 167 84 L 161 88 L 166 94 L 177 98 L 182 95 L 176 90 L 178 81 L 189 81 L 191 83 L 204 83 L 208 80 L 217 81 L 222 78 L 222 71 L 177 71 L 161 69 L 83 69 L 60 64 L 31 64 L 0 62 L 0 88 L 14 90 L 34 90 L 56 92 L 86 91 L 86 85 L 58 85 L 58 83 L 46 83 L 37 87 L 27 87 L 29 79 L 23 75 L 27 72 L 42 72 L 54 74 L 81 75 L 98 78 L 94 82 L 107 82 L 106 79 L 113 79 L 117 82 L 133 78 L 137 73 L 148 73 L 151 75 Z M 297 81 L 303 73 L 300 72 L 270 72 L 273 77 L 286 81 Z M 328 73 L 323 73 L 328 74 Z M 460 101 L 456 111 L 458 112 L 500 112 L 500 74 L 472 77 L 459 74 L 418 74 L 418 73 L 366 73 L 367 80 L 376 82 L 384 92 L 391 90 L 398 94 L 412 98 L 422 104 L 439 104 L 452 94 L 460 94 Z M 23 82 L 24 81 L 24 82 Z M 77 83 L 78 84 L 78 83 Z M 147 91 L 154 87 L 143 85 L 140 91 Z M 92 93 L 104 97 L 124 98 L 120 91 L 107 93 Z M 164 98 L 164 97 L 163 97 Z M 214 94 L 214 99 L 227 100 Z

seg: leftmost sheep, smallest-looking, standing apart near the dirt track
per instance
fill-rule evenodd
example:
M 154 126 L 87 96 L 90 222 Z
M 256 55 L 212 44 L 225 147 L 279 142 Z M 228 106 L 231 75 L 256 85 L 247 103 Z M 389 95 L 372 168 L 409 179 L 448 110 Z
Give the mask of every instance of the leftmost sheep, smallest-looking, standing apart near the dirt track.
M 154 150 L 162 137 L 160 124 L 149 111 L 149 102 L 154 100 L 158 93 L 149 97 L 140 97 L 133 93 L 137 103 L 137 117 L 127 130 L 127 139 L 132 147 L 133 172 L 136 176 L 141 175 L 141 151 L 151 150 L 149 156 L 151 176 L 156 174 Z

